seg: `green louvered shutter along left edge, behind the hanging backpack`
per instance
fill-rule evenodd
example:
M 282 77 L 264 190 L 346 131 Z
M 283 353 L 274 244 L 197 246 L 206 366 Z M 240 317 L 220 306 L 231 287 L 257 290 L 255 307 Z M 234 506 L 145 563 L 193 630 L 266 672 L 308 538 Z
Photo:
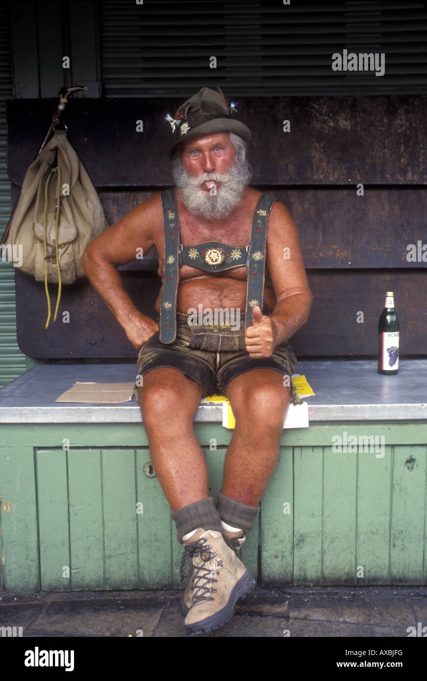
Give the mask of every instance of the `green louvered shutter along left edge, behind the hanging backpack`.
M 6 174 L 6 99 L 12 99 L 12 67 L 7 6 L 0 5 L 0 234 L 10 218 L 10 181 Z M 27 369 L 16 343 L 15 276 L 13 266 L 0 258 L 0 387 Z

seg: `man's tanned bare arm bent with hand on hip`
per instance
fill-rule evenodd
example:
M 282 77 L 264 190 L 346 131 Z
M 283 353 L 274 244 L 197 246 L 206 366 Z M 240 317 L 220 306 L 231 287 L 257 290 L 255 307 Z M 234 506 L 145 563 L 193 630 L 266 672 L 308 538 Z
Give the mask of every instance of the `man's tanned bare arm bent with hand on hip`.
M 133 305 L 116 268 L 135 260 L 141 253 L 138 249 L 142 249 L 143 254 L 148 253 L 154 244 L 156 227 L 162 223 L 160 197 L 156 194 L 99 234 L 82 256 L 82 267 L 89 281 L 136 349 L 159 331 L 159 325 Z

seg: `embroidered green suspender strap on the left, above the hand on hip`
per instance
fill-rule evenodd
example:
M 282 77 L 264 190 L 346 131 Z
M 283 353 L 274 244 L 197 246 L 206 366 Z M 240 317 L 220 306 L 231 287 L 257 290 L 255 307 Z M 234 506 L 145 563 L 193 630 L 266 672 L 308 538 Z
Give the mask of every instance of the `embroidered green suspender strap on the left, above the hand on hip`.
M 163 207 L 163 229 L 165 233 L 165 272 L 160 301 L 160 340 L 173 343 L 176 337 L 176 296 L 178 293 L 178 206 L 173 189 L 160 192 Z

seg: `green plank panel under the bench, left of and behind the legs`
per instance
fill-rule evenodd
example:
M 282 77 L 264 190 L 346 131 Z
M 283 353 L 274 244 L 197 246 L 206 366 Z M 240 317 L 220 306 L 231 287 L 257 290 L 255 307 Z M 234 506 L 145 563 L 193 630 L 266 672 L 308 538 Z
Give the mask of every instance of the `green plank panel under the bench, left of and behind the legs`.
M 203 451 L 216 498 L 226 449 Z M 34 455 L 41 590 L 181 586 L 183 547 L 157 477 L 144 473 L 147 448 L 36 448 Z M 256 577 L 257 524 L 244 555 Z

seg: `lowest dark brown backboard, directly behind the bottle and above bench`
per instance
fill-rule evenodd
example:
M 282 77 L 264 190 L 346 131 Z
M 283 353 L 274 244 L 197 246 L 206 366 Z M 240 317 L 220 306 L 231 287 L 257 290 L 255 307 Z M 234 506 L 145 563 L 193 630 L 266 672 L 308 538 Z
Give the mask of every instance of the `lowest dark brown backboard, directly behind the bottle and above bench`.
M 308 270 L 314 302 L 309 321 L 291 339 L 297 355 L 347 356 L 377 353 L 378 319 L 385 291 L 394 291 L 400 321 L 400 352 L 427 354 L 427 270 Z M 161 280 L 148 272 L 122 272 L 123 285 L 142 313 L 157 319 L 154 304 Z M 125 332 L 87 281 L 63 286 L 59 315 L 48 330 L 44 284 L 16 270 L 18 345 L 25 354 L 48 358 L 136 358 Z M 54 308 L 56 285 L 50 285 Z M 63 323 L 63 311 L 69 323 Z M 364 323 L 357 323 L 357 313 Z

